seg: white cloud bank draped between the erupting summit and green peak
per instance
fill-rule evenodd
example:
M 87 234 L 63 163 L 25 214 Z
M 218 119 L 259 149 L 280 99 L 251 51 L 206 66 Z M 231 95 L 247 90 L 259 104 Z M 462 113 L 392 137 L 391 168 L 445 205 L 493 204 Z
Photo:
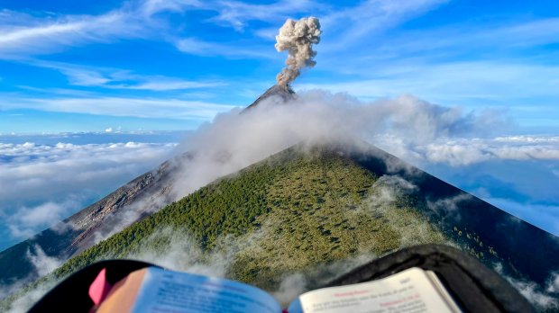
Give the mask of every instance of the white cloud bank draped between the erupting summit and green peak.
M 185 143 L 184 149 L 197 151 L 197 157 L 184 165 L 176 188 L 182 192 L 179 195 L 192 192 L 301 141 L 350 143 L 386 131 L 414 143 L 426 143 L 475 133 L 485 126 L 484 119 L 475 114 L 412 96 L 362 103 L 344 94 L 299 94 L 289 106 L 267 107 L 262 103 L 250 114 L 234 111 L 217 115 Z

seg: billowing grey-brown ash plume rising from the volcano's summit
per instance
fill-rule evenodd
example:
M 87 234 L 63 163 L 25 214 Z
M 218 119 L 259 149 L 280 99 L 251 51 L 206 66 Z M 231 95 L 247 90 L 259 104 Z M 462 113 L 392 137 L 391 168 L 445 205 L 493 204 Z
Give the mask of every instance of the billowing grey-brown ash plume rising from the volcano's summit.
M 301 73 L 303 67 L 314 67 L 316 51 L 313 43 L 320 42 L 320 22 L 316 17 L 304 17 L 298 21 L 288 19 L 276 36 L 278 52 L 288 50 L 287 67 L 276 76 L 278 85 L 287 86 Z

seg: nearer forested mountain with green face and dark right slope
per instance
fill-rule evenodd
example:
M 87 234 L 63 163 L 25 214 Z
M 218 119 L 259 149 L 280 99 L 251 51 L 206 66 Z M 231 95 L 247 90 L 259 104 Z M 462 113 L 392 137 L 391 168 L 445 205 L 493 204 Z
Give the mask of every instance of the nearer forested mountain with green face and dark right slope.
M 189 234 L 185 235 L 188 240 L 195 238 L 197 244 L 188 246 L 188 253 L 190 249 L 200 251 L 197 260 L 202 261 L 220 248 L 226 234 L 243 237 L 263 231 L 265 239 L 245 247 L 246 251 L 230 260 L 226 275 L 270 291 L 293 271 L 315 271 L 307 279 L 320 284 L 316 273 L 320 271 L 313 266 L 356 257 L 363 251 L 360 245 L 378 256 L 406 245 L 445 242 L 490 267 L 500 264 L 501 274 L 536 282 L 541 288 L 556 271 L 559 242 L 545 231 L 512 220 L 515 218 L 508 213 L 379 148 L 361 145 L 348 151 L 347 147 L 298 146 L 281 151 L 124 228 L 70 259 L 53 275 L 64 277 L 96 260 L 142 255 L 150 250 L 161 260 L 163 246 L 169 245 L 170 238 L 151 235 L 167 227 L 174 229 L 171 233 Z M 279 193 L 274 192 L 276 188 L 280 188 Z M 382 204 L 386 190 L 379 188 L 395 192 L 386 208 Z M 258 190 L 264 193 L 259 196 Z M 434 205 L 436 200 L 444 204 L 455 200 L 455 207 Z M 218 205 L 216 201 L 225 203 Z M 369 215 L 348 218 L 363 208 L 369 208 Z M 175 219 L 175 224 L 166 224 Z M 516 236 L 510 236 L 511 232 Z M 527 258 L 527 249 L 540 257 Z M 344 253 L 335 256 L 336 251 Z

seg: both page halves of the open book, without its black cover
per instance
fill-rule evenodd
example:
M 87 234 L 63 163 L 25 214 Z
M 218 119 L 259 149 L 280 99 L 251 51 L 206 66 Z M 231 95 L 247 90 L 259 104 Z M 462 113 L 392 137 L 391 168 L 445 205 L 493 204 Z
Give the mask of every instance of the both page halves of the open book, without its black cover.
M 289 309 L 266 291 L 225 279 L 147 267 L 118 282 L 97 312 L 460 312 L 435 273 L 417 267 L 387 278 L 303 293 Z

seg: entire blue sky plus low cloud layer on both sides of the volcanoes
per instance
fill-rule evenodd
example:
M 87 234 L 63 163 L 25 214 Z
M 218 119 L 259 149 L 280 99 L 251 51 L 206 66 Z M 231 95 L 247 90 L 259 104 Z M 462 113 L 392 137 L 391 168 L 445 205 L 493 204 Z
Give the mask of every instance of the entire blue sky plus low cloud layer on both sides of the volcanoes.
M 252 103 L 283 67 L 278 29 L 308 15 L 323 35 L 296 91 L 412 94 L 484 121 L 465 138 L 372 142 L 559 234 L 557 1 L 0 0 L 0 249 Z

